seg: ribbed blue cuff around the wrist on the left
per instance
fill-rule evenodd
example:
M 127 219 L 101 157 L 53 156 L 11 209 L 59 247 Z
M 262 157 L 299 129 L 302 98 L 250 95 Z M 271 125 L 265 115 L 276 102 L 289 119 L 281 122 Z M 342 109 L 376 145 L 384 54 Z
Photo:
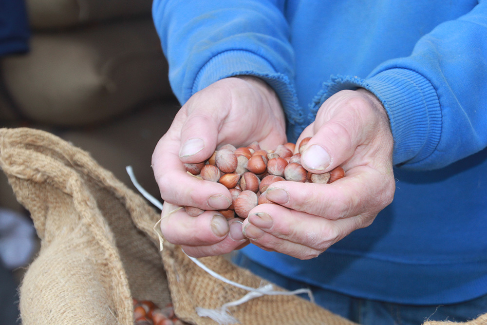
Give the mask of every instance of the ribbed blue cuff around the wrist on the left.
M 288 130 L 294 131 L 294 125 L 303 121 L 302 110 L 298 107 L 296 90 L 291 80 L 277 72 L 269 61 L 250 51 L 232 50 L 212 57 L 196 75 L 192 94 L 213 82 L 231 76 L 255 76 L 271 86 L 281 100 Z M 297 138 L 295 134 L 288 134 L 288 137 L 293 136 Z

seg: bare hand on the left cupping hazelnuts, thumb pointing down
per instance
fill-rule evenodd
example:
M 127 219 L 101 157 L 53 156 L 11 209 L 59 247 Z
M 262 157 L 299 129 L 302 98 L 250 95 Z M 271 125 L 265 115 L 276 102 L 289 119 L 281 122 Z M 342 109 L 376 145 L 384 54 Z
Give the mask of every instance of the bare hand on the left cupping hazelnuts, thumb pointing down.
M 242 221 L 227 221 L 216 210 L 228 208 L 230 192 L 222 184 L 188 175 L 184 163 L 205 161 L 217 146 L 264 149 L 286 142 L 284 115 L 274 91 L 254 77 L 226 78 L 189 98 L 152 155 L 152 168 L 165 201 L 161 231 L 194 257 L 218 255 L 248 243 Z M 189 216 L 180 206 L 208 210 Z

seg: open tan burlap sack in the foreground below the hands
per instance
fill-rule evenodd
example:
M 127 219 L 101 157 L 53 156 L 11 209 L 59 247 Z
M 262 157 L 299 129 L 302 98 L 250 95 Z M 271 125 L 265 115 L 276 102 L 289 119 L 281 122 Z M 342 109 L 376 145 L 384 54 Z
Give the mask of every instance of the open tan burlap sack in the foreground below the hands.
M 166 241 L 161 261 L 152 231 L 158 213 L 88 153 L 60 138 L 0 129 L 0 167 L 41 239 L 20 287 L 23 324 L 129 325 L 134 297 L 159 305 L 171 300 L 184 321 L 214 325 L 196 308 L 218 309 L 247 293 L 213 278 Z M 267 283 L 221 256 L 200 261 L 245 286 Z M 354 324 L 297 296 L 262 296 L 229 311 L 240 324 Z

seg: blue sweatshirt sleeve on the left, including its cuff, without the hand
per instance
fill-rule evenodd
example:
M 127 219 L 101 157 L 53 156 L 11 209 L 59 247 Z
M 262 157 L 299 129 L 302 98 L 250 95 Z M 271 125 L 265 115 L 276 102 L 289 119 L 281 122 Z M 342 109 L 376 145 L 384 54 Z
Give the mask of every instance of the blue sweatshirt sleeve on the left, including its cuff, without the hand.
M 181 103 L 219 79 L 251 75 L 273 87 L 289 111 L 301 114 L 289 26 L 284 3 L 277 2 L 154 0 L 152 15 L 169 62 L 169 81 Z

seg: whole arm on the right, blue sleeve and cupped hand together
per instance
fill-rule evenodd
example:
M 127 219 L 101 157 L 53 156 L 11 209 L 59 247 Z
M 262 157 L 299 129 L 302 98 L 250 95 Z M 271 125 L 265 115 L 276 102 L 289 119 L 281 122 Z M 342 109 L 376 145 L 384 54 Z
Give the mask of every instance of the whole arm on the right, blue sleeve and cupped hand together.
M 366 79 L 333 78 L 300 136 L 313 137 L 301 161 L 315 172 L 343 165 L 347 175 L 313 187 L 276 183 L 266 196 L 279 205 L 257 207 L 244 221 L 251 242 L 315 257 L 391 202 L 393 162 L 429 170 L 486 148 L 486 29 L 481 1 L 421 38 L 410 57 L 384 62 Z

